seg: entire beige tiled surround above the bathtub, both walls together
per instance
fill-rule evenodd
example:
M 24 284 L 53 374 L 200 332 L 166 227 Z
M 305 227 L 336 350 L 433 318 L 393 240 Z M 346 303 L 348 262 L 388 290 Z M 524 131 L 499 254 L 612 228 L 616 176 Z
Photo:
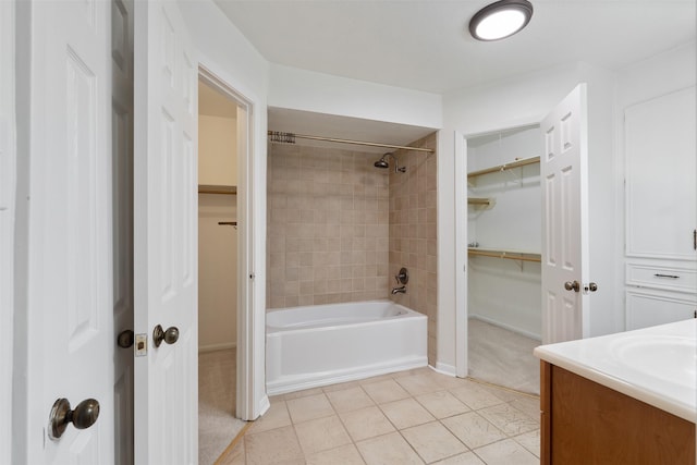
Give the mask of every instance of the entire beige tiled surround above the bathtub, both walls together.
M 436 149 L 436 133 L 409 144 Z M 406 294 L 391 298 L 428 316 L 436 364 L 436 154 L 396 150 L 405 173 L 380 154 L 270 145 L 267 307 L 390 297 L 400 268 Z

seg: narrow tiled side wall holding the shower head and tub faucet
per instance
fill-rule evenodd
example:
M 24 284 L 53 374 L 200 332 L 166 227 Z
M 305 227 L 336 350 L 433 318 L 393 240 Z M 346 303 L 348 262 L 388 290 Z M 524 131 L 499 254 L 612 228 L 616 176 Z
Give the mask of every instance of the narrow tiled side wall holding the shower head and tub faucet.
M 409 146 L 436 150 L 436 133 Z M 438 325 L 437 154 L 398 150 L 405 173 L 390 172 L 390 285 L 406 267 L 406 294 L 393 301 L 428 316 L 428 363 L 436 366 Z

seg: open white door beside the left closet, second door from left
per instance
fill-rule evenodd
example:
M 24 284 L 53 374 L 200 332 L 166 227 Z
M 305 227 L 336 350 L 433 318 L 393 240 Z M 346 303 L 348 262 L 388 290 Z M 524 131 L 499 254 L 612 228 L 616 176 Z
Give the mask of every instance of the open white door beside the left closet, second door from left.
M 198 64 L 176 2 L 136 0 L 134 32 L 135 462 L 193 464 Z

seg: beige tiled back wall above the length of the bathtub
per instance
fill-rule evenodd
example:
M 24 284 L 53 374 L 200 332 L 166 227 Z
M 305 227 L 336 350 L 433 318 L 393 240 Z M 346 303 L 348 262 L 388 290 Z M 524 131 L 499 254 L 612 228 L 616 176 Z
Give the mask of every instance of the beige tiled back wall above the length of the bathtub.
M 267 307 L 386 298 L 389 189 L 380 155 L 269 146 Z

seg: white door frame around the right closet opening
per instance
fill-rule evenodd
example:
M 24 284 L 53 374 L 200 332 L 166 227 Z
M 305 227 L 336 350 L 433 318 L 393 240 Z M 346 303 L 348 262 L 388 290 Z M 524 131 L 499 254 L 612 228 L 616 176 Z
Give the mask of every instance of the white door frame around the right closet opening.
M 496 125 L 476 133 L 455 131 L 455 374 L 466 378 L 469 372 L 468 359 L 468 321 L 467 281 L 469 268 L 467 262 L 467 139 L 540 125 L 545 115 L 516 120 L 509 125 Z M 541 145 L 540 145 L 541 150 Z

